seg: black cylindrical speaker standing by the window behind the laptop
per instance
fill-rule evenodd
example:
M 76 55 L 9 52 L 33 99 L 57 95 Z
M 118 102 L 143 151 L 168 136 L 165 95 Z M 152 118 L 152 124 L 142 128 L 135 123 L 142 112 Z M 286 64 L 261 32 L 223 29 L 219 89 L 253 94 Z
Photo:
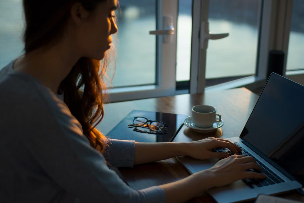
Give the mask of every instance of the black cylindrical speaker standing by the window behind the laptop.
M 285 53 L 281 50 L 270 50 L 268 55 L 267 78 L 271 73 L 283 76 Z

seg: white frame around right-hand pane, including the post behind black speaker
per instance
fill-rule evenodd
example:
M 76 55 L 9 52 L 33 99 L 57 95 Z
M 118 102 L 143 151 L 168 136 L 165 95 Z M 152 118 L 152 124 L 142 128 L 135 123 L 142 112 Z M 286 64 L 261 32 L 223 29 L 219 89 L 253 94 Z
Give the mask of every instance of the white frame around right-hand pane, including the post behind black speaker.
M 246 87 L 249 90 L 261 88 L 267 81 L 268 53 L 269 50 L 283 50 L 285 52 L 283 76 L 303 84 L 304 71 L 286 71 L 288 57 L 288 43 L 291 25 L 293 0 L 260 0 L 259 10 L 259 38 L 256 61 L 256 74 L 219 85 L 205 87 L 205 65 L 202 66 L 201 55 L 205 54 L 200 50 L 200 22 L 206 19 L 202 17 L 209 12 L 209 0 L 193 0 L 193 33 L 192 33 L 192 52 L 190 67 L 190 93 L 204 93 L 205 91 L 225 90 L 237 87 Z M 201 10 L 199 9 L 201 8 Z M 200 16 L 199 18 L 197 16 Z M 208 18 L 207 18 L 208 19 Z M 278 23 L 280 22 L 280 23 Z M 198 50 L 197 53 L 193 52 Z

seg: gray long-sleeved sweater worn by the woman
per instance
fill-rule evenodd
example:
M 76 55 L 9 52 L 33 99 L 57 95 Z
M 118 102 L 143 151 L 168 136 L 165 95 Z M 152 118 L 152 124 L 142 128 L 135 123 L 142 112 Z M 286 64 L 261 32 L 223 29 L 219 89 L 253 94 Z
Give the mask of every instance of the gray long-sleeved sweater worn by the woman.
M 15 61 L 15 60 L 14 60 Z M 0 71 L 0 202 L 165 202 L 158 187 L 134 190 L 107 167 L 133 167 L 134 141 L 93 149 L 80 123 L 36 78 Z

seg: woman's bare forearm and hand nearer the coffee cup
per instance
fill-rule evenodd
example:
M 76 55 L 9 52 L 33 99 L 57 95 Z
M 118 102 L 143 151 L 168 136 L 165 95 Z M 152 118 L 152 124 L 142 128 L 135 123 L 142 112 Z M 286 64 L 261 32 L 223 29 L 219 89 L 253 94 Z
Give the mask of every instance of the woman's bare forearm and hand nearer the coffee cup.
M 168 159 L 171 157 L 187 155 L 196 159 L 226 158 L 227 153 L 212 152 L 211 149 L 223 147 L 232 153 L 238 154 L 241 149 L 225 139 L 208 137 L 193 142 L 159 142 L 142 143 L 135 142 L 134 164 L 143 164 L 153 161 Z

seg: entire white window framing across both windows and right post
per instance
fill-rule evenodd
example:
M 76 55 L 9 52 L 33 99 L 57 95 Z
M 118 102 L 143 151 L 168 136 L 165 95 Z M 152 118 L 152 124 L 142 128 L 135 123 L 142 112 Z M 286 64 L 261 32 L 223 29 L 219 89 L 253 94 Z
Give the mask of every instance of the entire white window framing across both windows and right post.
M 162 5 L 158 6 L 158 19 L 162 19 L 163 15 L 170 14 L 173 16 L 174 26 L 177 27 L 178 1 L 157 0 L 157 2 L 158 5 Z M 175 6 L 173 6 L 173 4 Z M 260 0 L 259 4 L 261 9 L 259 10 L 258 14 L 259 37 L 255 75 L 230 82 L 224 82 L 215 86 L 205 87 L 205 66 L 203 68 L 202 63 L 205 63 L 206 61 L 206 54 L 204 53 L 204 50 L 202 51 L 200 49 L 199 45 L 201 21 L 202 19 L 208 19 L 209 0 L 193 0 L 190 80 L 186 82 L 183 81 L 185 84 L 187 83 L 189 89 L 176 89 L 176 87 L 179 87 L 179 84 L 175 80 L 177 47 L 177 32 L 175 30 L 175 34 L 173 35 L 173 43 L 171 44 L 173 45 L 172 47 L 175 47 L 174 51 L 172 51 L 172 49 L 170 50 L 169 46 L 167 46 L 168 44 L 162 43 L 162 36 L 157 37 L 158 85 L 111 90 L 110 101 L 126 101 L 187 93 L 204 93 L 205 91 L 225 90 L 237 87 L 245 87 L 249 90 L 255 90 L 263 87 L 267 81 L 269 50 L 283 50 L 285 52 L 283 76 L 303 84 L 304 70 L 286 71 L 293 0 Z M 162 22 L 160 21 L 158 24 L 158 29 L 161 29 L 161 27 Z M 164 56 L 163 53 L 166 53 L 166 56 Z

